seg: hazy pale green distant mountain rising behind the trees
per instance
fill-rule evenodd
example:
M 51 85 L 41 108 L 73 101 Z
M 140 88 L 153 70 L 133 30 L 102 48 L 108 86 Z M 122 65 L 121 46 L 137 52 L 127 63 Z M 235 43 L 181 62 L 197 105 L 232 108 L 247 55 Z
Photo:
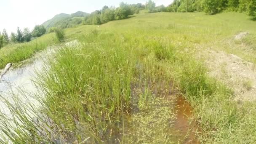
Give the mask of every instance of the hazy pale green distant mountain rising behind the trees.
M 58 25 L 63 22 L 67 23 L 70 19 L 74 17 L 85 17 L 88 16 L 90 13 L 85 13 L 83 11 L 77 11 L 76 13 L 67 14 L 67 13 L 60 13 L 54 16 L 52 19 L 49 19 L 48 21 L 45 21 L 42 25 L 49 29 L 50 27 L 58 27 Z

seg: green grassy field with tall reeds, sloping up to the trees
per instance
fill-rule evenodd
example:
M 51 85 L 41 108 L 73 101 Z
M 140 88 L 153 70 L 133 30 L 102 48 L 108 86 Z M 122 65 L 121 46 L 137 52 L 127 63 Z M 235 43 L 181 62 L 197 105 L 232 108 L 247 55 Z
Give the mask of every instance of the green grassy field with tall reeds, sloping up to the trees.
M 65 29 L 66 39 L 79 44 L 45 61 L 40 109 L 8 103 L 16 126 L 3 117 L 0 130 L 14 143 L 176 144 L 193 133 L 201 143 L 253 144 L 256 103 L 234 100 L 232 86 L 210 76 L 205 60 L 211 50 L 256 64 L 255 26 L 243 13 L 142 13 Z M 240 32 L 249 34 L 234 40 Z M 0 67 L 57 43 L 52 37 L 40 38 L 39 49 L 35 40 L 1 49 Z M 177 96 L 193 108 L 185 132 L 175 127 Z

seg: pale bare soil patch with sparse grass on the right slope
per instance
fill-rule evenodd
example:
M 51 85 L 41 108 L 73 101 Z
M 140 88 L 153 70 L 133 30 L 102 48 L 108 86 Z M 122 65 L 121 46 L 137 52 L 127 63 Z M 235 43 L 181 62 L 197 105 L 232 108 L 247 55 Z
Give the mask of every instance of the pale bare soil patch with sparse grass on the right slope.
M 206 53 L 205 63 L 210 69 L 209 75 L 232 88 L 235 100 L 256 100 L 256 69 L 253 63 L 223 51 L 207 49 Z

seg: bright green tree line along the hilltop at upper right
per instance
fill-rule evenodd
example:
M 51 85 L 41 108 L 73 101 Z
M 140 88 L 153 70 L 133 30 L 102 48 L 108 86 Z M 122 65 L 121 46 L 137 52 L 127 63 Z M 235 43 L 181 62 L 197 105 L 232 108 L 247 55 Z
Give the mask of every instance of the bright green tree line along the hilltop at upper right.
M 204 11 L 208 14 L 221 13 L 222 11 L 245 12 L 249 16 L 256 16 L 256 0 L 173 0 L 173 3 L 164 7 L 155 7 L 149 0 L 146 3 L 149 12 L 193 12 Z

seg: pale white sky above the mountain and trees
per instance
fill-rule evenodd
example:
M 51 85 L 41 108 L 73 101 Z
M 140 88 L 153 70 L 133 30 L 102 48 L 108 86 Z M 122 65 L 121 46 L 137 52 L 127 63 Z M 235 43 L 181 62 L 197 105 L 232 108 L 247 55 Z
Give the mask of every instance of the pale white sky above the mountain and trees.
M 104 5 L 117 7 L 121 2 L 133 4 L 147 0 L 0 0 L 0 32 L 5 28 L 8 34 L 17 27 L 32 30 L 59 13 L 83 11 L 91 13 Z M 169 5 L 173 0 L 153 0 L 156 5 Z

